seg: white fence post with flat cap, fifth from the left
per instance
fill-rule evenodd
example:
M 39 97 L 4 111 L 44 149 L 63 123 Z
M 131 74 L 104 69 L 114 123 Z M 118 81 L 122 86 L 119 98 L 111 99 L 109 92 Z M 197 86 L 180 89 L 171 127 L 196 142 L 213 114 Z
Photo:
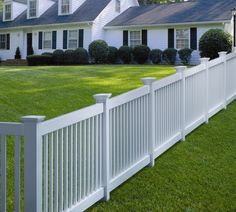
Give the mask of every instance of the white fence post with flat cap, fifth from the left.
M 206 79 L 206 82 L 205 82 L 205 122 L 206 124 L 209 123 L 209 65 L 208 65 L 208 62 L 209 62 L 210 58 L 208 57 L 204 57 L 204 58 L 201 58 L 200 61 L 201 61 L 201 64 L 205 66 L 205 69 L 206 69 L 206 75 L 205 75 L 205 79 Z

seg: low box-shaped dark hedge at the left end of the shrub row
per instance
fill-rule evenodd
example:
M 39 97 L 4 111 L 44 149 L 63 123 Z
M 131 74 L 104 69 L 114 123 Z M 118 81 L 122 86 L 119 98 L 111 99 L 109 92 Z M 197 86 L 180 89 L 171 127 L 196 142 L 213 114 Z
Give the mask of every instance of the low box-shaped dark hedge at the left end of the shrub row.
M 52 56 L 50 55 L 29 55 L 27 56 L 29 66 L 51 65 Z

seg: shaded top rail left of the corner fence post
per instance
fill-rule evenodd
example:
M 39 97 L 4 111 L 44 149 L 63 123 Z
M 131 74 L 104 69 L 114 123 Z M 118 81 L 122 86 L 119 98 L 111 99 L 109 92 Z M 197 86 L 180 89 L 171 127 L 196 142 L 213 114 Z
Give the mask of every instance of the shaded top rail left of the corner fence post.
M 24 124 L 15 122 L 0 122 L 0 134 L 1 135 L 24 135 Z

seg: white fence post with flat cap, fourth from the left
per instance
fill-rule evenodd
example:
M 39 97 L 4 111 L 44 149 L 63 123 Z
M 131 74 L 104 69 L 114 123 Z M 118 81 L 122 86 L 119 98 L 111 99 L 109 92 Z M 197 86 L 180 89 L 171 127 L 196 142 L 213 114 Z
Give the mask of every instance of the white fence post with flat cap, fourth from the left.
M 181 75 L 181 78 L 182 78 L 182 103 L 181 103 L 181 128 L 182 128 L 182 141 L 185 141 L 186 139 L 186 133 L 185 133 L 185 96 L 186 96 L 186 92 L 185 92 L 185 70 L 186 70 L 186 66 L 177 66 L 175 67 L 176 69 L 176 73 L 180 74 Z

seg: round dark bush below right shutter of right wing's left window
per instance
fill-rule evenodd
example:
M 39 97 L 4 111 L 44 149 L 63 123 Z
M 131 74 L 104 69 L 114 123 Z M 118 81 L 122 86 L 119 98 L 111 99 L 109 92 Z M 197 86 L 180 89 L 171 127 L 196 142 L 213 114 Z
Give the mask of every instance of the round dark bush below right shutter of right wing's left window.
M 134 60 L 139 64 L 144 64 L 149 58 L 150 49 L 145 45 L 135 46 L 133 49 Z

